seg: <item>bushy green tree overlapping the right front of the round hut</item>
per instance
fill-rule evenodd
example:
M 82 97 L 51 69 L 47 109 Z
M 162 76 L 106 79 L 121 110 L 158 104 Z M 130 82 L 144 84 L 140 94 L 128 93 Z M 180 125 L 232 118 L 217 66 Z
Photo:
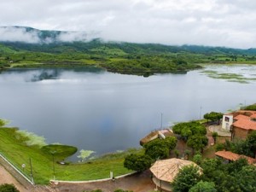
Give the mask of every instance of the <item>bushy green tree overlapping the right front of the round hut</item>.
M 191 187 L 199 182 L 200 177 L 198 166 L 183 166 L 173 180 L 173 192 L 188 192 Z

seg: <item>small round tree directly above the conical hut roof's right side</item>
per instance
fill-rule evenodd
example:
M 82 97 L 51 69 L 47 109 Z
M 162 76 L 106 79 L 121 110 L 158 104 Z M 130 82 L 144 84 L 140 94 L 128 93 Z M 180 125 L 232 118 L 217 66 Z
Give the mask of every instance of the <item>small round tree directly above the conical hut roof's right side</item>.
M 196 151 L 202 150 L 205 146 L 207 146 L 207 143 L 208 138 L 201 135 L 191 136 L 187 142 L 188 146 Z

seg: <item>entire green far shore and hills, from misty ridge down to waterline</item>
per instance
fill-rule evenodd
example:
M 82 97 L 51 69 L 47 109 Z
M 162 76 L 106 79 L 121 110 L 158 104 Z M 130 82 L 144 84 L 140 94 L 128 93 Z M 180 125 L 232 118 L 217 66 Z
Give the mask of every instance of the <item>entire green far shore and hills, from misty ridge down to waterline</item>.
M 93 65 L 128 74 L 183 73 L 201 63 L 256 63 L 256 49 L 109 42 L 95 33 L 0 27 L 0 70 Z

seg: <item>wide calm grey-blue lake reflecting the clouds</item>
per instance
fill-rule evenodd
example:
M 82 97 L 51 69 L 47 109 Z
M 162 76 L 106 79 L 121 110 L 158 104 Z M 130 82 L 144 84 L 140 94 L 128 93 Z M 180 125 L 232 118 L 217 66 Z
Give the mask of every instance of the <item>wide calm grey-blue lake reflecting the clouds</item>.
M 203 73 L 214 70 L 239 73 L 248 82 Z M 105 154 L 138 147 L 142 137 L 161 126 L 256 102 L 255 74 L 256 66 L 248 65 L 207 66 L 148 78 L 94 67 L 11 69 L 0 74 L 0 117 L 45 137 L 47 143 Z

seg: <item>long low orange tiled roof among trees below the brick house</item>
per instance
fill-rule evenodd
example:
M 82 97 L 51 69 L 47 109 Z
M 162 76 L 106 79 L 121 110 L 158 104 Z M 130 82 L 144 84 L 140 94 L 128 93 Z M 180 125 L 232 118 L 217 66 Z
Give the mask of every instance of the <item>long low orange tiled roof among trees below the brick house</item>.
M 248 161 L 248 164 L 256 165 L 256 159 L 247 157 L 246 155 L 242 155 L 242 154 L 235 154 L 235 153 L 232 153 L 231 151 L 217 151 L 215 155 L 228 161 L 235 161 L 243 158 Z

